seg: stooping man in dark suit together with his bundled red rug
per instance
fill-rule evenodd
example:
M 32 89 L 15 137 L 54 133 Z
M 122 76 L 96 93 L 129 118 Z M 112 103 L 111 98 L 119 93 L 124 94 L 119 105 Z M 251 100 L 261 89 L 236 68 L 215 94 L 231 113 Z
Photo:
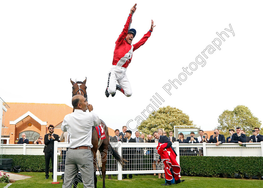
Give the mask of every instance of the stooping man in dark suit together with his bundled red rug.
M 176 161 L 176 152 L 172 147 L 172 142 L 167 136 L 161 136 L 157 131 L 153 132 L 153 136 L 158 139 L 157 153 L 160 155 L 157 163 L 163 161 L 164 173 L 166 183 L 162 185 L 172 185 L 171 180 L 174 178 L 174 184 L 181 183 L 185 180 L 181 180 L 180 171 L 181 167 Z

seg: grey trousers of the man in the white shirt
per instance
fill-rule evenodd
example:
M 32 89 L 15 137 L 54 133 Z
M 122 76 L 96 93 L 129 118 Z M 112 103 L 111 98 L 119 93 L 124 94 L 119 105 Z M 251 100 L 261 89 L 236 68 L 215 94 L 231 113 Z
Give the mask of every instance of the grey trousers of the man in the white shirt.
M 94 188 L 93 153 L 90 149 L 68 149 L 62 188 L 71 188 L 78 170 L 81 173 L 83 187 Z

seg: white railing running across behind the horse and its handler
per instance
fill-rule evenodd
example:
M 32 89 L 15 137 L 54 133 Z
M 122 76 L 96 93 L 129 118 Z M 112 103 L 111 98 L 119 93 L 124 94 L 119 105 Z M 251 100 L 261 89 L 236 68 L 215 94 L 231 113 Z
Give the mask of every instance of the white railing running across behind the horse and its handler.
M 61 149 L 66 147 L 67 143 L 54 142 L 54 151 L 58 153 L 54 154 L 54 181 L 57 181 L 57 175 L 62 175 L 64 170 L 59 169 L 58 155 L 60 155 Z M 134 167 L 129 170 L 122 168 L 122 166 L 116 162 L 116 159 L 107 159 L 107 171 L 106 174 L 117 174 L 118 180 L 122 179 L 122 174 L 149 174 L 149 173 L 164 173 L 164 170 L 153 170 L 152 165 L 154 164 L 153 154 L 157 147 L 157 143 L 115 143 L 115 150 L 122 156 L 122 152 L 127 148 L 133 148 L 135 150 L 143 150 L 144 158 L 147 160 L 146 164 L 140 164 L 141 159 L 137 158 L 134 154 L 135 165 L 144 165 L 144 167 Z M 178 142 L 173 143 L 173 148 L 178 154 L 177 161 L 179 161 L 179 155 L 202 155 L 202 156 L 263 156 L 263 141 L 261 143 L 246 143 L 246 147 L 242 147 L 239 144 L 225 143 L 219 144 L 179 144 Z M 3 154 L 24 154 L 24 155 L 44 155 L 44 145 L 38 144 L 3 144 Z M 151 151 L 151 153 L 150 153 Z M 196 151 L 193 153 L 193 151 Z M 61 153 L 62 154 L 62 153 Z M 108 155 L 111 156 L 111 155 Z M 98 159 L 97 155 L 97 159 Z M 147 158 L 147 159 L 145 159 Z M 98 160 L 99 161 L 99 160 Z M 147 166 L 147 167 L 146 167 Z M 99 171 L 96 171 L 99 175 Z

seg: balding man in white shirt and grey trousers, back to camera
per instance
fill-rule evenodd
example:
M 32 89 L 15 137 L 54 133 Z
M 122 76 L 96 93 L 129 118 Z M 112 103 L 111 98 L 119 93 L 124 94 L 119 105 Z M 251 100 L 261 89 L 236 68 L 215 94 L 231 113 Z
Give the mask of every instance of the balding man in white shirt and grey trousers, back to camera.
M 90 150 L 93 147 L 92 126 L 100 125 L 101 120 L 92 112 L 92 105 L 88 104 L 82 95 L 72 97 L 72 106 L 74 112 L 66 115 L 61 125 L 61 130 L 68 131 L 70 135 L 62 188 L 72 186 L 78 169 L 84 188 L 94 187 L 93 153 Z

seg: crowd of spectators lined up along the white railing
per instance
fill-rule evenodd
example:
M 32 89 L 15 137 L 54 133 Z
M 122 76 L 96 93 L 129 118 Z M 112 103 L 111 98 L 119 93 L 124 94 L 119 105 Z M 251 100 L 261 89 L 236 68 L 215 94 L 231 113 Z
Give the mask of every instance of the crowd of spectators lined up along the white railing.
M 49 126 L 52 132 L 54 127 Z M 52 130 L 53 129 L 53 130 Z M 179 142 L 179 144 L 197 144 L 197 143 L 214 143 L 216 146 L 223 143 L 237 143 L 244 144 L 248 142 L 261 142 L 263 141 L 263 135 L 260 135 L 260 128 L 254 128 L 251 136 L 246 136 L 245 131 L 241 130 L 240 127 L 234 129 L 229 129 L 230 136 L 225 138 L 223 134 L 219 134 L 218 129 L 214 129 L 214 134 L 208 138 L 208 134 L 204 133 L 203 130 L 199 130 L 199 137 L 195 137 L 195 133 L 191 132 L 190 136 L 185 138 L 183 133 L 179 133 L 176 138 L 173 136 L 173 131 L 166 132 L 162 128 L 159 128 L 158 133 L 163 136 L 167 136 L 171 142 Z M 51 133 L 50 132 L 50 133 Z M 158 139 L 154 138 L 153 135 L 140 134 L 139 131 L 135 132 L 135 137 L 131 138 L 132 132 L 127 130 L 126 126 L 122 127 L 122 132 L 119 129 L 115 130 L 115 136 L 110 136 L 110 142 L 122 142 L 122 143 L 158 143 Z M 27 139 L 24 134 L 23 138 L 20 138 L 18 144 L 27 143 Z M 63 132 L 59 138 L 55 138 L 59 142 L 68 142 L 67 132 Z M 34 144 L 44 144 L 43 138 L 39 137 Z M 64 162 L 66 157 L 67 148 L 61 149 L 61 157 L 58 163 L 58 170 L 64 171 Z M 203 156 L 203 149 L 201 147 L 180 147 L 179 148 L 180 156 Z M 52 156 L 46 156 L 46 177 L 48 178 L 48 166 L 49 160 L 52 159 Z M 111 154 L 108 154 L 107 159 L 107 170 L 117 170 L 116 160 L 113 159 Z M 122 157 L 127 160 L 126 165 L 123 167 L 123 170 L 163 170 L 163 163 L 157 163 L 159 154 L 157 150 L 153 148 L 122 148 Z M 98 167 L 100 166 L 100 154 L 97 153 Z M 53 161 L 52 161 L 53 164 Z M 135 175 L 144 175 L 144 174 L 135 174 Z M 153 174 L 156 176 L 156 174 Z M 164 174 L 157 174 L 158 178 L 164 178 Z M 115 175 L 114 175 L 115 176 Z M 132 174 L 129 174 L 128 177 L 132 179 Z M 108 175 L 108 178 L 111 179 L 111 175 Z M 126 179 L 127 175 L 124 174 L 122 179 Z

